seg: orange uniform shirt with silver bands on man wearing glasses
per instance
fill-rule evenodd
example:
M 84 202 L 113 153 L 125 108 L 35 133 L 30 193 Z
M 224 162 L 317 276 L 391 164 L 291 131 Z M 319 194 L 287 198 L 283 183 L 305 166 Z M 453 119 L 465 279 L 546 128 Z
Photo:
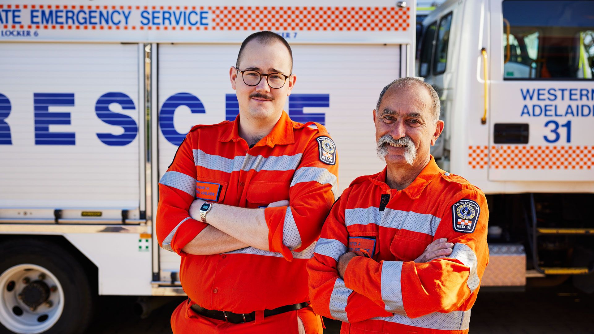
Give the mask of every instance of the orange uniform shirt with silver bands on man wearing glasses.
M 293 122 L 284 111 L 252 148 L 239 137 L 238 119 L 192 128 L 159 181 L 157 210 L 159 244 L 182 256 L 180 279 L 191 303 L 251 313 L 308 301 L 305 263 L 337 197 L 336 160 L 322 125 Z M 195 198 L 247 208 L 289 200 L 290 206 L 264 209 L 270 251 L 197 256 L 182 251 L 207 226 L 189 217 Z M 191 322 L 187 308 L 172 322 Z

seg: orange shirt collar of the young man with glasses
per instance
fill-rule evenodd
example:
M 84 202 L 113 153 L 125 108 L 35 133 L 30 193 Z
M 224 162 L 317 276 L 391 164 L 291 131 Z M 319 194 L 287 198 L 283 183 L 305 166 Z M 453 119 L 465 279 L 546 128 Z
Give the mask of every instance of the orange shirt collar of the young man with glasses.
M 280 115 L 279 121 L 276 122 L 270 133 L 262 138 L 262 140 L 258 141 L 255 146 L 270 146 L 274 147 L 274 145 L 287 145 L 287 144 L 294 144 L 295 143 L 295 135 L 293 134 L 293 121 L 289 118 L 289 115 L 285 111 L 283 111 L 282 115 Z M 235 121 L 229 122 L 227 130 L 223 133 L 219 141 L 239 141 L 242 138 L 239 137 L 239 114 L 235 118 Z

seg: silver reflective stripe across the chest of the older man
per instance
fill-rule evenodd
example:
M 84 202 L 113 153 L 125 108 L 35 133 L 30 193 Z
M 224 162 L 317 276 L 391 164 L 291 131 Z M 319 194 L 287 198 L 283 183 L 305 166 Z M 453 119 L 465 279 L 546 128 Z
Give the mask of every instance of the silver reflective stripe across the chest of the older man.
M 373 223 L 387 228 L 406 229 L 408 231 L 435 235 L 440 222 L 441 218 L 429 214 L 389 208 L 379 211 L 379 208 L 374 206 L 345 210 L 346 226 Z

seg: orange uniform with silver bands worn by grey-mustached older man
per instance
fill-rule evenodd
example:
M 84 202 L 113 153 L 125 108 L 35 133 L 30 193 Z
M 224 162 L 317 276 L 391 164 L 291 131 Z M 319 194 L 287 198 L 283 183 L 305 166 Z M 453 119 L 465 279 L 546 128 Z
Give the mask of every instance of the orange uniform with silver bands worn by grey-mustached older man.
M 386 169 L 352 182 L 331 209 L 307 264 L 314 311 L 343 321 L 341 333 L 466 333 L 488 263 L 485 195 L 438 168 L 433 157 L 404 190 Z M 447 258 L 415 263 L 438 238 Z M 337 261 L 347 251 L 345 279 Z

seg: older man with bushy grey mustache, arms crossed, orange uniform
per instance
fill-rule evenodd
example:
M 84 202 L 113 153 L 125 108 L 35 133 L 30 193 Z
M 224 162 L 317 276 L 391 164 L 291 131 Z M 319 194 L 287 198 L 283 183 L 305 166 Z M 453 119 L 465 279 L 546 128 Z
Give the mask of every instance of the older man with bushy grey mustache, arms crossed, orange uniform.
M 439 114 L 437 93 L 417 78 L 380 94 L 373 119 L 386 168 L 343 192 L 307 264 L 314 311 L 342 320 L 341 333 L 468 332 L 489 214 L 482 191 L 429 154 Z

